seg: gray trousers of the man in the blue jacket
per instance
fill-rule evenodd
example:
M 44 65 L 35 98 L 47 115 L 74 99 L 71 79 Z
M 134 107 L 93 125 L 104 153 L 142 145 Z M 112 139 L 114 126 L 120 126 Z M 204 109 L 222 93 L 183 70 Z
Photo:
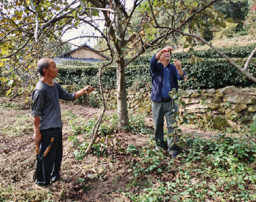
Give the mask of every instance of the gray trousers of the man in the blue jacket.
M 174 109 L 174 111 L 173 111 Z M 154 101 L 152 100 L 152 114 L 154 120 L 155 127 L 155 139 L 156 139 L 156 150 L 160 147 L 164 148 L 164 116 L 166 118 L 166 123 L 168 127 L 168 151 L 170 154 L 177 155 L 179 153 L 179 148 L 176 143 L 178 141 L 177 134 L 175 133 L 175 129 L 172 128 L 172 123 L 174 123 L 174 119 L 172 119 L 174 112 L 178 111 L 178 105 L 173 104 L 172 102 L 162 102 L 162 101 Z

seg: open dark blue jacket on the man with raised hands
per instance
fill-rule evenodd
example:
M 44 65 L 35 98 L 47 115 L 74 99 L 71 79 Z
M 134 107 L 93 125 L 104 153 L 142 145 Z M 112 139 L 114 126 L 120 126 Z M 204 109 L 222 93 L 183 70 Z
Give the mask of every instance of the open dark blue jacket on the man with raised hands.
M 152 92 L 151 92 L 151 100 L 161 101 L 162 97 L 162 85 L 164 78 L 164 65 L 162 63 L 158 63 L 158 59 L 156 59 L 156 54 L 150 59 L 150 71 L 151 71 L 151 79 L 152 79 Z M 176 70 L 175 65 L 168 64 L 165 68 L 170 68 L 170 90 L 175 88 L 178 91 L 178 80 L 183 80 L 184 74 L 179 75 L 178 70 Z

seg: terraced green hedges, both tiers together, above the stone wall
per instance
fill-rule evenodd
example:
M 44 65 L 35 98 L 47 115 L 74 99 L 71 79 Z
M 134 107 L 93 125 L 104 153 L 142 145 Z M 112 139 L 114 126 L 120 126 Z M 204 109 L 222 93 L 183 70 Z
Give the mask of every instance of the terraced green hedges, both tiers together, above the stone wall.
M 249 46 L 222 48 L 229 57 L 243 67 L 245 65 L 248 55 L 251 53 L 254 44 Z M 189 64 L 187 59 L 192 55 L 200 57 L 202 63 Z M 250 87 L 255 86 L 251 79 L 247 78 L 241 71 L 234 68 L 226 59 L 220 58 L 218 53 L 212 49 L 197 50 L 191 53 L 175 53 L 172 55 L 173 59 L 179 59 L 182 62 L 183 69 L 187 71 L 188 81 L 181 81 L 179 83 L 181 88 L 185 89 L 207 89 L 207 88 L 224 88 L 225 86 L 241 86 Z M 148 57 L 139 57 L 125 68 L 125 85 L 127 88 L 139 90 L 151 90 L 151 77 L 150 77 L 150 59 Z M 59 81 L 62 85 L 75 85 L 84 87 L 85 85 L 95 85 L 98 83 L 98 67 L 100 63 L 84 63 L 82 61 L 65 61 L 65 65 L 58 65 L 59 68 Z M 256 58 L 251 60 L 248 71 L 256 75 Z M 115 81 L 116 69 L 115 64 L 108 67 L 102 73 L 102 83 L 110 80 Z M 110 88 L 110 86 L 106 86 Z

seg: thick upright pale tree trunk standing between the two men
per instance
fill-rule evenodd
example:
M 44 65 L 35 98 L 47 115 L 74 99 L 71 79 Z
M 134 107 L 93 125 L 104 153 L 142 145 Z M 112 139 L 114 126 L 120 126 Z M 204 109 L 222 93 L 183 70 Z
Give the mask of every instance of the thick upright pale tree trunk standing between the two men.
M 127 95 L 125 88 L 125 60 L 117 63 L 117 114 L 119 133 L 128 133 L 129 118 L 127 110 Z

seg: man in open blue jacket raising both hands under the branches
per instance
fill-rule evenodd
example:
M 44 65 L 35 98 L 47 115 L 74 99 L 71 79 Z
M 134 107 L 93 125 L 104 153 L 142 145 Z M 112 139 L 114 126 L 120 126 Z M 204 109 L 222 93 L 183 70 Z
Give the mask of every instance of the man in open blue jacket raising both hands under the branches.
M 174 104 L 168 93 L 175 88 L 178 91 L 178 80 L 183 80 L 186 73 L 181 69 L 181 62 L 174 60 L 170 64 L 171 46 L 162 48 L 150 60 L 152 77 L 152 114 L 155 128 L 156 151 L 164 148 L 164 116 L 168 127 L 168 152 L 172 158 L 179 154 L 177 147 L 177 135 L 172 128 L 174 112 L 178 111 L 178 105 Z

